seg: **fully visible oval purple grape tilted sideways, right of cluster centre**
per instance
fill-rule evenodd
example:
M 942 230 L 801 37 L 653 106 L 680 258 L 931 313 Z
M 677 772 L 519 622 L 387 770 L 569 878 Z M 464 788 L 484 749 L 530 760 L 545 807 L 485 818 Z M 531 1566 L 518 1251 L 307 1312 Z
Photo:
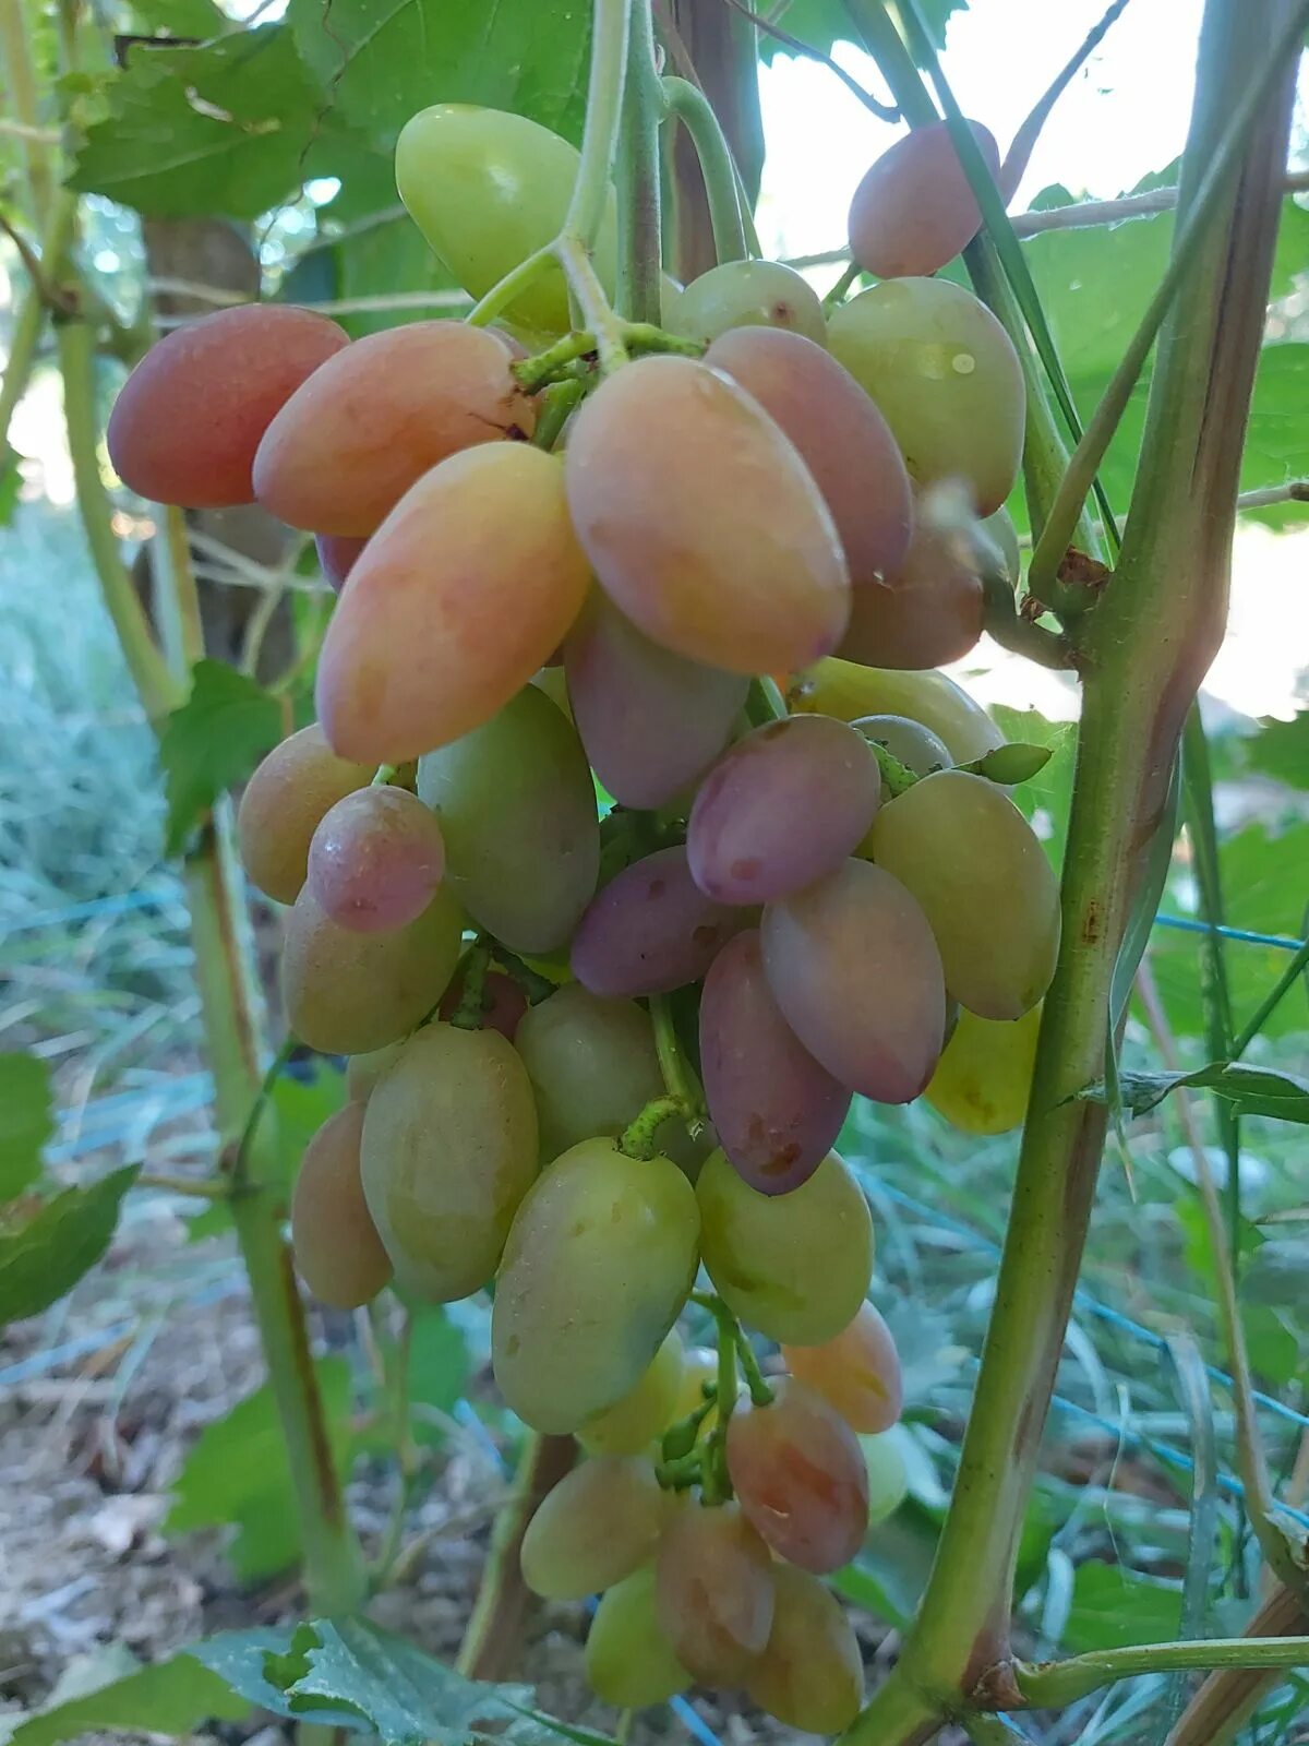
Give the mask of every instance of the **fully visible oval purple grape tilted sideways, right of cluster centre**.
M 719 903 L 770 903 L 831 873 L 878 810 L 867 740 L 834 716 L 789 716 L 726 751 L 695 796 L 691 876 Z

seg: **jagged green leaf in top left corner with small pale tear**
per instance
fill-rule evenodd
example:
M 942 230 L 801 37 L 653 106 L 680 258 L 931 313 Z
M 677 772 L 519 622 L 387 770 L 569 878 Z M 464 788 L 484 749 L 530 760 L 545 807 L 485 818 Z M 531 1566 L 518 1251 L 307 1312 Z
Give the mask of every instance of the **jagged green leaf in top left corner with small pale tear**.
M 321 5 L 316 3 L 321 31 Z M 323 33 L 326 40 L 326 33 Z M 293 196 L 323 98 L 283 24 L 202 49 L 138 44 L 73 159 L 72 189 L 152 218 L 258 218 Z

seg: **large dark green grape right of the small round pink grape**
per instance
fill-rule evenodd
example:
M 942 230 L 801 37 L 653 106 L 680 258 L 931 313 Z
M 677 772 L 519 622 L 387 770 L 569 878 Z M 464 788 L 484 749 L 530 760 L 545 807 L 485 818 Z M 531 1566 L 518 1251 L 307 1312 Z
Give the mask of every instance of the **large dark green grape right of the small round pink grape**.
M 419 760 L 438 815 L 445 878 L 511 952 L 550 952 L 592 899 L 600 826 L 581 742 L 527 684 L 490 721 Z

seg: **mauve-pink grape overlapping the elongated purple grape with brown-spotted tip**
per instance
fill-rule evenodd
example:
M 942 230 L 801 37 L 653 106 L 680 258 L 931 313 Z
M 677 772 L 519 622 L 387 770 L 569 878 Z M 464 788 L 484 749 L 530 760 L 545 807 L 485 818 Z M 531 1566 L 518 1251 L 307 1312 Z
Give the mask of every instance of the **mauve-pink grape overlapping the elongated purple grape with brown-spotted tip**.
M 768 986 L 829 1074 L 880 1103 L 908 1103 L 932 1077 L 946 983 L 932 929 L 899 880 L 869 861 L 770 903 Z

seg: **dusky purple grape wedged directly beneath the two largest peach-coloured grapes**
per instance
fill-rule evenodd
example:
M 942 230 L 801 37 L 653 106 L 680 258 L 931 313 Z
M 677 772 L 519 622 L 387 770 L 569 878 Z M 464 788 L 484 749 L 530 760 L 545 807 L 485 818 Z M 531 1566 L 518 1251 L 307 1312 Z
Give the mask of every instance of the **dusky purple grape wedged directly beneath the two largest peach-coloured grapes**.
M 651 643 L 599 588 L 564 643 L 572 719 L 625 807 L 663 807 L 728 744 L 750 681 Z

